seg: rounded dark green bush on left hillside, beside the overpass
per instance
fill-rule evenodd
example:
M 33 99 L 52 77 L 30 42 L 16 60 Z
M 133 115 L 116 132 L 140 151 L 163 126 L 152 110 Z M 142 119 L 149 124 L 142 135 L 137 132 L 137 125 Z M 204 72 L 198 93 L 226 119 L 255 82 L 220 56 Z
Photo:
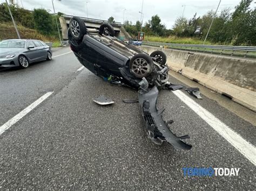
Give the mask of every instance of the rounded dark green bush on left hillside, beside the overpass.
M 46 35 L 53 33 L 53 19 L 45 9 L 34 9 L 33 18 L 36 30 Z

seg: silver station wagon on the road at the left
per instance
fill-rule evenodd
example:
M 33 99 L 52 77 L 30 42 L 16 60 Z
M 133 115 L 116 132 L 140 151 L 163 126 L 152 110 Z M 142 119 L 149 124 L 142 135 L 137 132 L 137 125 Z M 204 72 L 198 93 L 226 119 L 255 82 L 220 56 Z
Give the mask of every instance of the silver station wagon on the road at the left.
M 0 67 L 28 68 L 32 62 L 51 59 L 51 48 L 41 40 L 9 39 L 0 42 Z

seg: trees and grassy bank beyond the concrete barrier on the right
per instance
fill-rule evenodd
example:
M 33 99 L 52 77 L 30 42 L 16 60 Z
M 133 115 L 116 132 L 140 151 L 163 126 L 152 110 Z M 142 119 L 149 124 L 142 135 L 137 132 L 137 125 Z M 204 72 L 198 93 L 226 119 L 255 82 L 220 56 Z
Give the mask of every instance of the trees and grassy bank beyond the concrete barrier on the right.
M 211 10 L 205 15 L 193 18 L 178 17 L 173 29 L 166 29 L 158 15 L 152 16 L 144 26 L 137 21 L 126 21 L 125 30 L 137 37 L 138 32 L 145 32 L 145 40 L 164 43 L 203 44 L 207 30 L 214 18 L 205 44 L 256 46 L 256 10 L 250 9 L 252 0 L 241 0 L 233 12 L 221 10 L 218 16 Z

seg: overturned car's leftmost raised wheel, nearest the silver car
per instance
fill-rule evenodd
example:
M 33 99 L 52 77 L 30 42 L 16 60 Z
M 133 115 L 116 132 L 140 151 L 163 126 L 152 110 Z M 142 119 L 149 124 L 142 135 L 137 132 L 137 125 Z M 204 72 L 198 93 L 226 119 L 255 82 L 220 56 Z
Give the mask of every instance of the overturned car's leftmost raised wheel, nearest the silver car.
M 85 23 L 79 17 L 72 17 L 69 22 L 70 34 L 73 39 L 80 41 L 87 34 Z

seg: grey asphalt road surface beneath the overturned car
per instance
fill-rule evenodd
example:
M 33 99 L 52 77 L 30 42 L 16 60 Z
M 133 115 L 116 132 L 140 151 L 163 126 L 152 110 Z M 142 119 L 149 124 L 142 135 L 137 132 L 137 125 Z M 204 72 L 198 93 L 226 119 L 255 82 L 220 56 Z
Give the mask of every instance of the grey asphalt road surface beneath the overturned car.
M 255 151 L 254 125 L 205 95 L 197 100 L 183 90 L 161 90 L 158 107 L 166 108 L 164 119 L 174 120 L 171 129 L 178 136 L 190 135 L 186 142 L 193 147 L 176 151 L 166 143 L 154 145 L 138 104 L 122 101 L 136 98 L 137 92 L 104 82 L 81 66 L 66 47 L 55 49 L 52 61 L 0 71 L 0 129 L 9 125 L 0 135 L 1 190 L 256 189 L 253 151 L 251 158 L 242 154 L 246 145 L 239 150 L 228 142 L 225 132 L 217 132 L 178 94 Z M 181 83 L 174 77 L 169 81 Z M 92 99 L 101 94 L 115 103 L 97 105 Z M 184 167 L 240 171 L 238 176 L 184 176 Z

